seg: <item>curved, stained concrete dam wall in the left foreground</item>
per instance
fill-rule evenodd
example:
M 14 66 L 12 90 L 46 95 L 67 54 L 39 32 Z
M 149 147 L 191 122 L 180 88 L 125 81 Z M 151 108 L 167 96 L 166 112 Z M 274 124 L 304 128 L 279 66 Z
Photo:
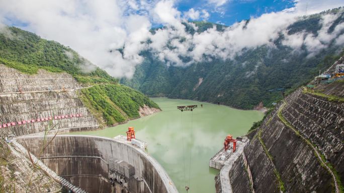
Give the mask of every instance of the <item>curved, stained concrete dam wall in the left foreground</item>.
M 45 144 L 51 142 L 42 151 L 44 136 L 16 138 L 58 175 L 90 193 L 178 193 L 161 165 L 131 144 L 85 135 L 58 135 L 55 138 L 49 135 L 45 139 Z M 131 171 L 132 167 L 134 171 Z

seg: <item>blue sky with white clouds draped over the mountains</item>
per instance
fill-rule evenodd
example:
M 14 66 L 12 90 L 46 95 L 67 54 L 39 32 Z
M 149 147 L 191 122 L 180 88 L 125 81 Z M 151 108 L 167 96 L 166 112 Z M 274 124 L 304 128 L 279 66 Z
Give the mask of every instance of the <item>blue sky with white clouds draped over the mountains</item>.
M 280 33 L 286 35 L 286 27 L 298 16 L 340 6 L 344 1 L 0 0 L 0 28 L 16 26 L 34 32 L 70 46 L 115 77 L 132 77 L 135 66 L 143 60 L 139 55 L 143 50 L 149 49 L 167 65 L 175 66 L 207 60 L 204 56 L 228 59 L 244 48 L 273 46 L 273 41 Z M 344 36 L 340 35 L 344 25 L 327 33 L 337 17 L 324 16 L 317 36 L 304 32 L 286 35 L 283 44 L 295 50 L 306 46 L 310 56 L 333 39 L 344 44 Z M 241 21 L 247 19 L 250 23 L 245 26 Z M 182 25 L 188 21 L 210 21 L 230 28 L 224 32 L 209 29 L 192 36 Z M 151 28 L 161 26 L 166 28 L 154 35 L 149 33 Z M 123 49 L 123 54 L 117 49 Z M 185 64 L 182 57 L 192 60 Z

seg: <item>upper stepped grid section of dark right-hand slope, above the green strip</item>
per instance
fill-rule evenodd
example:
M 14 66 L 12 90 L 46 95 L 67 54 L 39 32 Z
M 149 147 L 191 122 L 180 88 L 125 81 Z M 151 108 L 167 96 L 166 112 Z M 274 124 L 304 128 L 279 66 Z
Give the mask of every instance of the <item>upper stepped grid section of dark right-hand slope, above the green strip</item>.
M 317 146 L 344 179 L 344 103 L 302 93 L 301 89 L 287 102 L 290 105 L 282 115 Z

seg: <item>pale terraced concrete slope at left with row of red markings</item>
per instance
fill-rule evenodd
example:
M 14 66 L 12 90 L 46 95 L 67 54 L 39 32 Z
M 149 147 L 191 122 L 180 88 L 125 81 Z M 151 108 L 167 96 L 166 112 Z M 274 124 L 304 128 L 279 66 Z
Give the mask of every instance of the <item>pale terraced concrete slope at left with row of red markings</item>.
M 77 97 L 80 86 L 71 75 L 45 70 L 28 75 L 2 64 L 0 72 L 0 132 L 39 133 L 50 121 L 59 132 L 98 128 L 97 120 Z

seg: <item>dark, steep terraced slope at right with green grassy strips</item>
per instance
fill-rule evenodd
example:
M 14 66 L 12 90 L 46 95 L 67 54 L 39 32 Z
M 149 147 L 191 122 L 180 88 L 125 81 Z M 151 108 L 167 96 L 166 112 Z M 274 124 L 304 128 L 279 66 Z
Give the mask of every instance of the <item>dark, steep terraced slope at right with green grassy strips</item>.
M 250 144 L 229 171 L 233 192 L 343 192 L 343 87 L 342 80 L 316 83 L 280 102 L 248 134 Z

